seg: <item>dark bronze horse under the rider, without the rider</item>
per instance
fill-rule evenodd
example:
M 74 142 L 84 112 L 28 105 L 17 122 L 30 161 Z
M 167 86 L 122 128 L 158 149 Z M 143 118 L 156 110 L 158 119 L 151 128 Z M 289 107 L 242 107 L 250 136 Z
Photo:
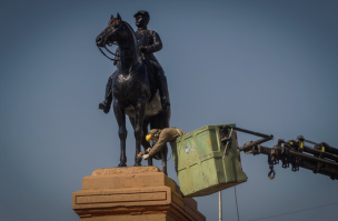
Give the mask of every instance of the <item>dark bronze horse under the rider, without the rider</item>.
M 169 128 L 170 107 L 167 109 L 161 107 L 158 86 L 152 80 L 150 67 L 146 66 L 135 32 L 129 23 L 122 21 L 119 13 L 117 18 L 111 16 L 108 27 L 97 37 L 96 42 L 101 52 L 101 49 L 107 49 L 107 46 L 113 43 L 119 46 L 119 54 L 107 49 L 119 60 L 118 73 L 112 79 L 113 111 L 119 125 L 121 149 L 119 167 L 127 167 L 126 114 L 133 127 L 136 139 L 135 165 L 141 165 L 141 159 L 138 159 L 137 154 L 141 151 L 141 144 L 145 149 L 150 147 L 146 141 L 148 125 L 150 124 L 150 129 Z M 166 174 L 167 153 L 168 147 L 166 145 L 160 151 L 162 172 Z M 152 165 L 152 158 L 148 159 L 148 165 Z

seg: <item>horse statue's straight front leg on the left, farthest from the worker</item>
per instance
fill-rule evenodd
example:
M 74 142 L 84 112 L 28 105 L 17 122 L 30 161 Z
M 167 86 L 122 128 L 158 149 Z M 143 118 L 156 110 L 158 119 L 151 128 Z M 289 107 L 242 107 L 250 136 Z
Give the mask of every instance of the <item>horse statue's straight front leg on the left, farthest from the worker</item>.
M 115 117 L 119 124 L 119 137 L 120 137 L 120 163 L 119 167 L 127 167 L 127 157 L 126 157 L 126 139 L 127 139 L 127 129 L 126 129 L 126 114 L 125 109 L 121 103 L 117 100 L 113 101 L 113 112 Z

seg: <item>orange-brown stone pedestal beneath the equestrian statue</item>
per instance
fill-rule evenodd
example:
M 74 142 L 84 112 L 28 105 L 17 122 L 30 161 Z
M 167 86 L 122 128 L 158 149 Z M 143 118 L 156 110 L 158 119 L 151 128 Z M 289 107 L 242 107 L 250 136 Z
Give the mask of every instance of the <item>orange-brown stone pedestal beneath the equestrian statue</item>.
M 173 180 L 157 167 L 108 168 L 82 180 L 72 193 L 81 221 L 206 220 L 197 202 L 182 198 Z

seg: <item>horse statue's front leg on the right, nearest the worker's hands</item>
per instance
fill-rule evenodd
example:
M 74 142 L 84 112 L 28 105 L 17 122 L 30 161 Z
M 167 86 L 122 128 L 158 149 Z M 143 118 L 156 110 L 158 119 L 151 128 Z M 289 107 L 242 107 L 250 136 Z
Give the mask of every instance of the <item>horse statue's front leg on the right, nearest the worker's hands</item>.
M 138 159 L 137 155 L 141 151 L 146 102 L 147 102 L 146 97 L 141 97 L 138 99 L 137 104 L 135 107 L 135 128 L 133 128 L 133 134 L 136 140 L 135 165 L 141 165 L 141 160 L 142 160 L 142 159 Z

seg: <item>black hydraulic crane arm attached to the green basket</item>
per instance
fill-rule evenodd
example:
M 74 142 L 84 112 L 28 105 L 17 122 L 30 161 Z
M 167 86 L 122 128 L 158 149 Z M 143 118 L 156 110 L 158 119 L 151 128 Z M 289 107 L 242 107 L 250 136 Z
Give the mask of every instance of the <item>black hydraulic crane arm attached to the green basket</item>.
M 320 173 L 330 177 L 332 180 L 338 180 L 338 149 L 330 147 L 329 144 L 321 142 L 316 143 L 304 139 L 299 135 L 296 140 L 285 141 L 279 139 L 274 148 L 262 147 L 261 143 L 268 140 L 272 140 L 274 135 L 267 135 L 257 133 L 254 131 L 243 130 L 232 127 L 232 130 L 250 133 L 262 137 L 258 141 L 250 141 L 245 143 L 240 151 L 251 154 L 266 154 L 268 155 L 268 163 L 270 172 L 268 177 L 275 178 L 274 165 L 279 164 L 281 161 L 282 168 L 289 168 L 291 164 L 292 171 L 299 171 L 299 168 L 305 168 L 314 171 L 314 173 Z M 226 139 L 222 139 L 226 140 Z M 310 143 L 314 148 L 306 145 Z M 226 153 L 225 153 L 226 154 Z

